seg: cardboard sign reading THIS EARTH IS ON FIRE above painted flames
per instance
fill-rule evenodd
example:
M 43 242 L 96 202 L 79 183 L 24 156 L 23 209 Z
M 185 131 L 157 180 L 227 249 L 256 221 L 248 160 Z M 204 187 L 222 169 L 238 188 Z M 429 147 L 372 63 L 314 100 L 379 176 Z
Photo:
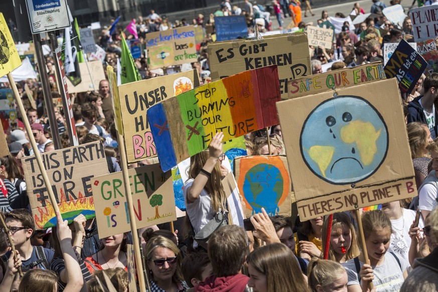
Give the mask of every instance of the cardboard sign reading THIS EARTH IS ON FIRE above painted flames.
M 93 218 L 93 178 L 108 174 L 103 144 L 100 141 L 91 142 L 42 153 L 41 156 L 62 218 L 70 222 L 79 214 Z M 56 226 L 55 213 L 35 156 L 21 161 L 24 175 L 28 179 L 27 193 L 35 228 Z

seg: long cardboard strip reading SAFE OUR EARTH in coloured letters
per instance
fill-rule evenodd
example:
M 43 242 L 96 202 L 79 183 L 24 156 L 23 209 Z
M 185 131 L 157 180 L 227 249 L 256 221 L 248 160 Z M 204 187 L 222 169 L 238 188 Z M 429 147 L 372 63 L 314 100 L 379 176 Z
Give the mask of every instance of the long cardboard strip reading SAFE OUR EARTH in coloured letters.
M 289 89 L 287 98 L 296 98 L 316 94 L 335 88 L 345 88 L 379 79 L 385 79 L 381 62 L 373 62 L 353 68 L 345 68 L 301 77 L 287 82 Z

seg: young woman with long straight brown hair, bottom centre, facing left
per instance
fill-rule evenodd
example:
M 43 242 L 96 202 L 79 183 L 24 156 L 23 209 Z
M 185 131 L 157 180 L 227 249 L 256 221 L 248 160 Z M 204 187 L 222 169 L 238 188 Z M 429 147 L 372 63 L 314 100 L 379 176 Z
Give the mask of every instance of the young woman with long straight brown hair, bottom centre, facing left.
M 246 258 L 248 286 L 256 292 L 307 292 L 304 275 L 294 253 L 282 243 L 272 243 L 255 249 Z

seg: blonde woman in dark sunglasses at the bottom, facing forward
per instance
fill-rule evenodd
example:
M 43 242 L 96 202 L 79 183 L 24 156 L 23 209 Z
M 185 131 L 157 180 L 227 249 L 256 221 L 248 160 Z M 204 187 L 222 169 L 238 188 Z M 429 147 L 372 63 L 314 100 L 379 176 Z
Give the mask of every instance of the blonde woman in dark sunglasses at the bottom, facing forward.
M 152 238 L 146 244 L 144 258 L 151 291 L 184 292 L 189 288 L 181 272 L 182 254 L 172 240 L 163 236 Z

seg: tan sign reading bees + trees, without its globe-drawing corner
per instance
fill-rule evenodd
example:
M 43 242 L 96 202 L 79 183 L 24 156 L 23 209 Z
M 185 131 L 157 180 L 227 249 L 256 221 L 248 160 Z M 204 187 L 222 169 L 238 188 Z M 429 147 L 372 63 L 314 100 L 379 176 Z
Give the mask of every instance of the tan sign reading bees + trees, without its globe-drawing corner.
M 146 34 L 148 50 L 153 46 L 163 43 L 171 43 L 173 45 L 174 61 L 172 65 L 198 61 L 195 46 L 195 28 L 193 26 Z

